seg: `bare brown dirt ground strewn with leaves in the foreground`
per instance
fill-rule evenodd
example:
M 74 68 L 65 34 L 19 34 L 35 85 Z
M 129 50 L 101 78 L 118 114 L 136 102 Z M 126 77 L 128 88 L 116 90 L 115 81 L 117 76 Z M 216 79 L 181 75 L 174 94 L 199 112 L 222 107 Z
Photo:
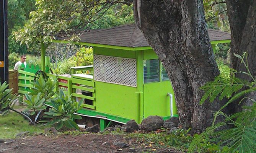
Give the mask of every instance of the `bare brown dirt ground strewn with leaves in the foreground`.
M 120 148 L 114 142 L 129 145 Z M 0 141 L 0 153 L 181 153 L 172 148 L 157 148 L 155 144 L 144 144 L 135 138 L 113 134 L 37 135 L 23 136 L 15 140 Z

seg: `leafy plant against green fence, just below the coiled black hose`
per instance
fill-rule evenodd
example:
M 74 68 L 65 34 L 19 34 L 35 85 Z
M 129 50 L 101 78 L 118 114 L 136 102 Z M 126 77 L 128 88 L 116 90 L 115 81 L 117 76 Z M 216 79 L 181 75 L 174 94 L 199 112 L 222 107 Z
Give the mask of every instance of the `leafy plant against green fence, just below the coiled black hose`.
M 54 96 L 56 85 L 57 79 L 52 81 L 50 78 L 46 80 L 39 78 L 34 82 L 34 87 L 31 89 L 31 93 L 29 94 L 38 95 L 40 93 L 41 99 L 44 99 L 45 102 L 47 102 L 52 98 L 52 96 Z

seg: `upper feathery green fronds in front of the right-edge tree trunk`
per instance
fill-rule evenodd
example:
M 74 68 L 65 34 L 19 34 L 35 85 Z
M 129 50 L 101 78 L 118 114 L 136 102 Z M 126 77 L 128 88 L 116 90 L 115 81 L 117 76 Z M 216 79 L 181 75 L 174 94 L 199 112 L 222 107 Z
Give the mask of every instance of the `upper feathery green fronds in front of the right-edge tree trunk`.
M 217 96 L 219 96 L 220 100 L 226 97 L 229 100 L 221 108 L 223 109 L 228 104 L 241 98 L 245 94 L 256 90 L 256 80 L 254 77 L 251 76 L 249 68 L 246 65 L 247 62 L 244 61 L 244 59 L 246 58 L 246 53 L 244 53 L 242 57 L 236 54 L 235 56 L 238 57 L 238 59 L 241 60 L 241 63 L 245 65 L 247 72 L 236 72 L 236 70 L 230 68 L 230 75 L 227 76 L 228 71 L 225 71 L 225 73 L 221 73 L 218 77 L 216 77 L 214 81 L 206 83 L 204 86 L 201 87 L 205 94 L 202 97 L 200 104 L 204 103 L 208 98 L 210 102 L 213 102 L 214 99 L 217 98 Z M 246 80 L 236 78 L 235 73 L 243 73 L 245 75 L 248 75 L 252 78 L 253 82 L 248 82 Z M 240 89 L 242 89 L 243 87 L 246 87 L 246 90 L 240 91 Z

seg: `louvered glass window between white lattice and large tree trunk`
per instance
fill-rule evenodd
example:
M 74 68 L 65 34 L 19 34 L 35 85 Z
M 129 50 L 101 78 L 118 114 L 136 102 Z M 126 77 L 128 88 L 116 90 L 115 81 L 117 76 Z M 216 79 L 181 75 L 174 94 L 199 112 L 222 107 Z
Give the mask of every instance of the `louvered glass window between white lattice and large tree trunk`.
M 143 61 L 144 71 L 144 83 L 160 81 L 159 77 L 159 60 L 144 60 Z

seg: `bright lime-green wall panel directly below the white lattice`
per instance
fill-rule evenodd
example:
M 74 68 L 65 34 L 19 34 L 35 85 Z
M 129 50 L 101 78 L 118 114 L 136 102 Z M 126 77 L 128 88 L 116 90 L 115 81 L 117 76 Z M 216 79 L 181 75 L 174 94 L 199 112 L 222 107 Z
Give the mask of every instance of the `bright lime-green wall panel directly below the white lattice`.
M 95 81 L 96 111 L 136 120 L 136 88 Z

